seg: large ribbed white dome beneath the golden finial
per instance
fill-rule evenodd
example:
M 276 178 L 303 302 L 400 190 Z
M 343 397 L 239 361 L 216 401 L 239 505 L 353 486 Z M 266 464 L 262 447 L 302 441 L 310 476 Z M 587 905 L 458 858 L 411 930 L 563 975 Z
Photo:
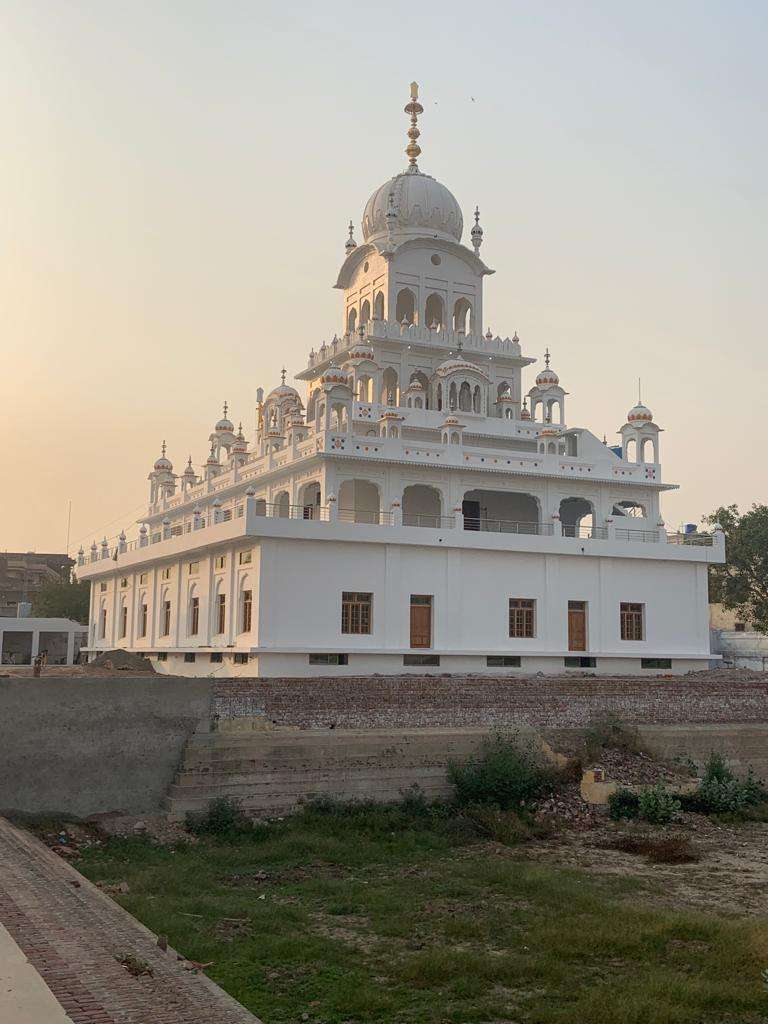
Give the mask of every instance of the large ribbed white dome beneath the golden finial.
M 396 174 L 377 188 L 362 212 L 362 238 L 376 242 L 387 238 L 387 210 L 392 197 L 392 231 L 407 238 L 438 238 L 461 242 L 464 221 L 454 195 L 429 174 L 416 168 Z

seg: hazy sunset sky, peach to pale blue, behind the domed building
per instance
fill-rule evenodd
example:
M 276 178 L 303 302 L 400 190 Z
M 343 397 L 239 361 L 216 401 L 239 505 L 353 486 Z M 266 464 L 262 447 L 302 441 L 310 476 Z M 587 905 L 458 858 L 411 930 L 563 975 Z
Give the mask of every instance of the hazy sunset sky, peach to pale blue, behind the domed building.
M 568 423 L 614 440 L 640 376 L 671 525 L 768 501 L 767 44 L 739 0 L 4 0 L 0 549 L 62 550 L 70 499 L 72 550 L 128 528 L 224 398 L 253 432 L 341 330 L 412 79 L 487 324 L 550 347 Z

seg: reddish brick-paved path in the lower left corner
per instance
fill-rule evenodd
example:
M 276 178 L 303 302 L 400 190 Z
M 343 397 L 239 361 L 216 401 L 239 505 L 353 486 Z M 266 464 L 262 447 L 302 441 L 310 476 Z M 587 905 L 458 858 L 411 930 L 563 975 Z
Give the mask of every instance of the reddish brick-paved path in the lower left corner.
M 0 818 L 0 923 L 73 1024 L 259 1024 L 28 833 Z M 133 953 L 153 976 L 116 959 Z

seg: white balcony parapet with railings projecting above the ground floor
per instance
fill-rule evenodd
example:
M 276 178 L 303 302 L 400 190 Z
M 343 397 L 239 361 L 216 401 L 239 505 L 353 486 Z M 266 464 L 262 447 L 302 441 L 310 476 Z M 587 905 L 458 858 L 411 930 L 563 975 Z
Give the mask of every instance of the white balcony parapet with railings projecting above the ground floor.
M 233 509 L 199 515 L 185 526 L 164 526 L 138 541 L 111 549 L 102 542 L 78 558 L 80 579 L 93 579 L 159 560 L 216 548 L 242 537 L 409 544 L 444 548 L 526 551 L 542 554 L 653 558 L 719 563 L 725 559 L 721 530 L 668 535 L 664 528 L 564 526 L 549 522 L 475 519 L 455 510 L 452 515 L 410 513 L 393 503 L 388 511 L 338 508 L 335 501 L 306 507 L 268 505 L 247 497 Z

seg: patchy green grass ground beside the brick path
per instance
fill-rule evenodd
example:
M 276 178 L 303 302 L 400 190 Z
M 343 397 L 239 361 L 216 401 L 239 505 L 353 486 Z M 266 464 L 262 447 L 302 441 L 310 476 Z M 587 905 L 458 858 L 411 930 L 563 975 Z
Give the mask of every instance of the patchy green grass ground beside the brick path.
M 768 1021 L 764 920 L 643 905 L 627 880 L 499 853 L 423 809 L 111 840 L 77 866 L 128 882 L 121 904 L 265 1024 Z

